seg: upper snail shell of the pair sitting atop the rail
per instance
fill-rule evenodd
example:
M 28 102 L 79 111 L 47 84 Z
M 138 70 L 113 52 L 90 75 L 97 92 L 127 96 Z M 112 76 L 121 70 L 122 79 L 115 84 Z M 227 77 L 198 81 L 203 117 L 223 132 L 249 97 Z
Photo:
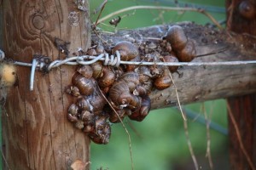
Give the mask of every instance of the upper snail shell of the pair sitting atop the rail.
M 171 26 L 165 38 L 167 42 L 171 43 L 174 51 L 183 49 L 188 42 L 188 38 L 181 26 Z

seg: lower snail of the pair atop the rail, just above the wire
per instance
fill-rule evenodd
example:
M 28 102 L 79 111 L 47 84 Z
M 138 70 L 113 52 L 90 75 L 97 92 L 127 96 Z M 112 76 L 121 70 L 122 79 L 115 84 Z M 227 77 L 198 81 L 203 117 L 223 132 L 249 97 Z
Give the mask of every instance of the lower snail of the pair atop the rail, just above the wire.
M 177 59 L 182 62 L 190 62 L 195 59 L 195 43 L 191 40 L 188 41 L 185 48 L 180 51 L 177 51 Z

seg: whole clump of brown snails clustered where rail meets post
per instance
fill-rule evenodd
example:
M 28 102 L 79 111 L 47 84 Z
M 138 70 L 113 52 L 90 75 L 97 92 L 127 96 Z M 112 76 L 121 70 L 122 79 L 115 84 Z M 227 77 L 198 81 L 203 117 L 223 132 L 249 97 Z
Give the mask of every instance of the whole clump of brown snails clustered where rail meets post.
M 165 48 L 164 56 L 154 51 L 142 53 L 142 48 L 123 41 L 115 44 L 111 53 L 119 51 L 120 59 L 126 61 L 178 62 L 195 57 L 195 45 L 180 26 L 169 29 L 160 47 Z M 90 55 L 103 53 L 106 52 L 102 45 L 87 51 Z M 80 66 L 73 75 L 73 84 L 66 90 L 76 98 L 68 108 L 68 120 L 96 144 L 108 144 L 111 134 L 109 122 L 120 122 L 125 116 L 143 121 L 150 111 L 150 92 L 154 88 L 162 90 L 172 85 L 170 72 L 177 71 L 177 66 L 168 68 L 162 65 L 121 65 L 116 68 L 102 65 L 102 61 Z

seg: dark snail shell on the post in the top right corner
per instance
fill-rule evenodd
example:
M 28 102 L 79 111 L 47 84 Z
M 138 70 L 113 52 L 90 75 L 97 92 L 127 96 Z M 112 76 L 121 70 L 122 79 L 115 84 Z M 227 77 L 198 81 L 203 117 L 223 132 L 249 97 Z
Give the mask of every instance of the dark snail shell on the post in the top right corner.
M 243 16 L 248 20 L 253 20 L 256 14 L 255 8 L 256 6 L 252 2 L 245 0 L 245 1 L 241 1 L 241 3 L 239 4 L 238 10 L 241 16 Z

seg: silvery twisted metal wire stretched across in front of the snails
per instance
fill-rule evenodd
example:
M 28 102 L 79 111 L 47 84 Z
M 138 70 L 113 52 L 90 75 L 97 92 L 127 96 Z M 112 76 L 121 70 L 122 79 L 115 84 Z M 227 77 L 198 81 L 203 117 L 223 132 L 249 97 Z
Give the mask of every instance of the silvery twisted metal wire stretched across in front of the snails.
M 0 49 L 0 61 L 5 58 L 4 52 Z M 50 63 L 44 62 L 44 59 L 34 58 L 32 63 L 25 63 L 20 61 L 14 61 L 15 65 L 32 67 L 31 77 L 30 77 L 30 90 L 33 90 L 33 82 L 35 71 L 38 69 L 40 71 L 51 71 L 55 67 L 61 65 L 91 65 L 96 61 L 103 61 L 104 65 L 111 65 L 119 67 L 122 65 L 165 65 L 165 66 L 207 66 L 207 65 L 250 65 L 256 64 L 256 60 L 242 60 L 242 61 L 215 61 L 215 62 L 148 62 L 148 61 L 124 61 L 121 60 L 119 51 L 117 50 L 115 54 L 99 54 L 98 56 L 81 55 L 72 56 L 67 59 L 56 59 Z

